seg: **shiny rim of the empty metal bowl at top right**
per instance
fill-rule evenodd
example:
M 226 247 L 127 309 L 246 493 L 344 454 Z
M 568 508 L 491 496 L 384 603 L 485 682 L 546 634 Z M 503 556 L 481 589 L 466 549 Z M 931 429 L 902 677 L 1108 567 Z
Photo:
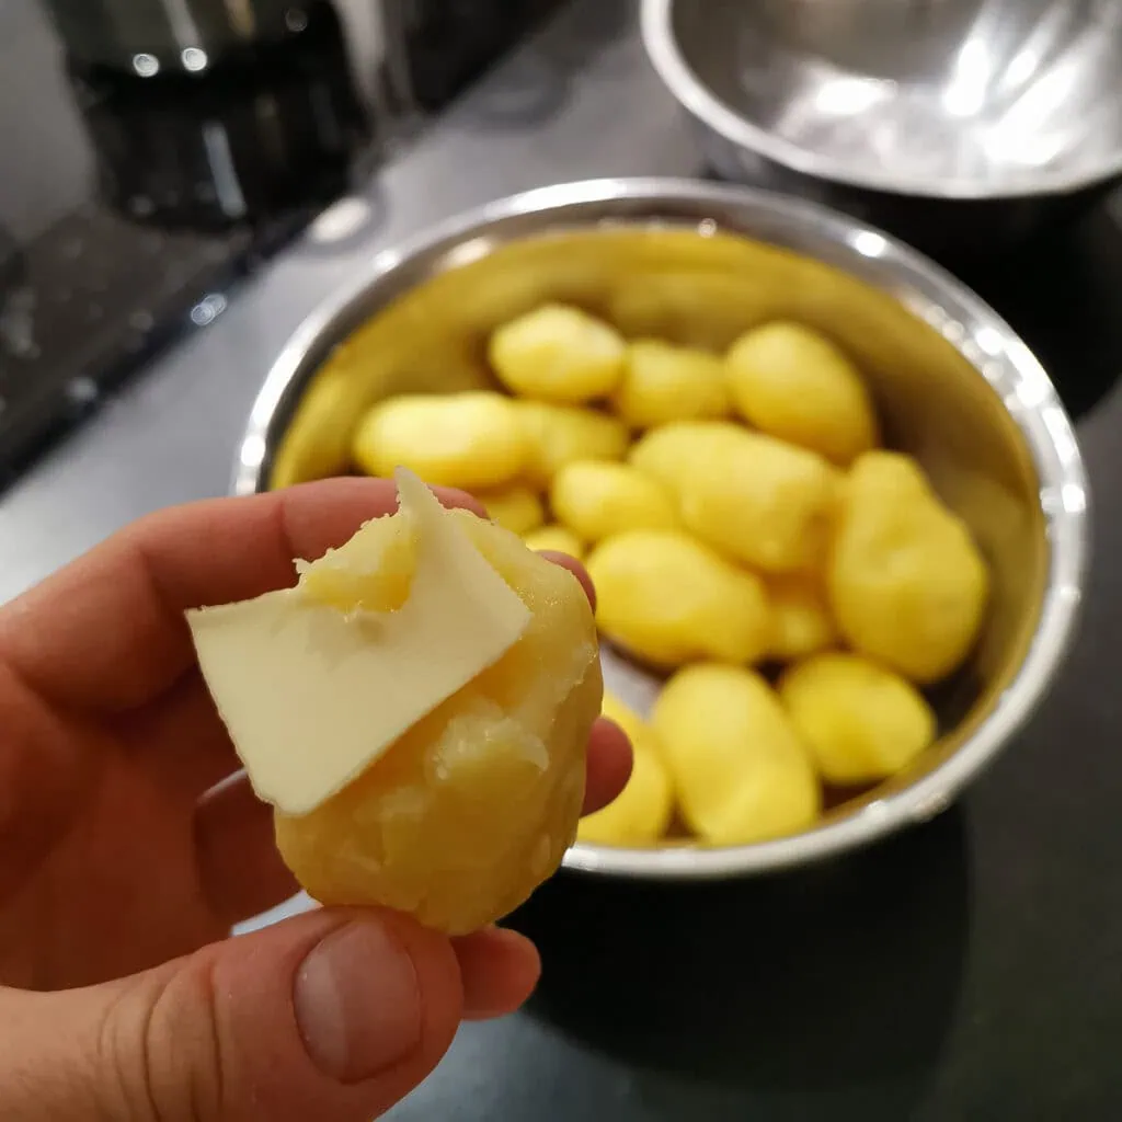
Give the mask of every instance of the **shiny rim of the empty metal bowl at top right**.
M 855 172 L 837 160 L 753 125 L 716 96 L 686 61 L 672 33 L 675 0 L 642 0 L 640 26 L 647 58 L 686 110 L 729 144 L 781 167 L 843 186 L 914 199 L 982 202 L 1075 194 L 1122 175 L 1122 150 L 1094 171 L 1037 173 L 1031 180 L 986 187 L 974 180 L 930 177 L 902 181 L 876 171 Z

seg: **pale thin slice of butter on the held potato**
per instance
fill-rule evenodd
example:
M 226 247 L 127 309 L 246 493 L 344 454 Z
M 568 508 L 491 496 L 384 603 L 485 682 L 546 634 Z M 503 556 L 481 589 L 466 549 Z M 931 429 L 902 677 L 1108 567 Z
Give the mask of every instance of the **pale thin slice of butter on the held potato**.
M 343 613 L 296 587 L 186 614 L 254 790 L 289 815 L 346 787 L 530 623 L 459 519 L 416 476 L 394 478 L 417 535 L 416 571 L 396 611 Z

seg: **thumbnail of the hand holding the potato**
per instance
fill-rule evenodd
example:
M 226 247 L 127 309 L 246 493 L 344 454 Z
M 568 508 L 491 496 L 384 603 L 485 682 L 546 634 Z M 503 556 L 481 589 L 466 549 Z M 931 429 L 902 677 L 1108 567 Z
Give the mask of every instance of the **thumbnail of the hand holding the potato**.
M 375 920 L 348 923 L 296 972 L 296 1023 L 313 1063 L 341 1083 L 370 1079 L 421 1042 L 413 959 Z

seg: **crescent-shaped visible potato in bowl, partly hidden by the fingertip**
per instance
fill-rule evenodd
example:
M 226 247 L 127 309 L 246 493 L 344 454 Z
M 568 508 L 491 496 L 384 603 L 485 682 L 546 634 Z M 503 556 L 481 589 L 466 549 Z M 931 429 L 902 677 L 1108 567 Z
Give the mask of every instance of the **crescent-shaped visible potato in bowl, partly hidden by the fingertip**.
M 674 811 L 673 789 L 651 726 L 618 698 L 604 695 L 603 712 L 632 742 L 631 779 L 619 795 L 580 820 L 577 840 L 595 845 L 649 846 L 666 833 Z

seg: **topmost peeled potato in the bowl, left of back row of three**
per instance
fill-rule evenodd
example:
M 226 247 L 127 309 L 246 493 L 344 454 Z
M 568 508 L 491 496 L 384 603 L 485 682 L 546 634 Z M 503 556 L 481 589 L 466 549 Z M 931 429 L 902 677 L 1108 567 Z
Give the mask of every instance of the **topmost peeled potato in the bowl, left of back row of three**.
M 562 304 L 504 324 L 488 351 L 495 374 L 512 393 L 563 405 L 610 394 L 623 377 L 625 352 L 615 328 Z

